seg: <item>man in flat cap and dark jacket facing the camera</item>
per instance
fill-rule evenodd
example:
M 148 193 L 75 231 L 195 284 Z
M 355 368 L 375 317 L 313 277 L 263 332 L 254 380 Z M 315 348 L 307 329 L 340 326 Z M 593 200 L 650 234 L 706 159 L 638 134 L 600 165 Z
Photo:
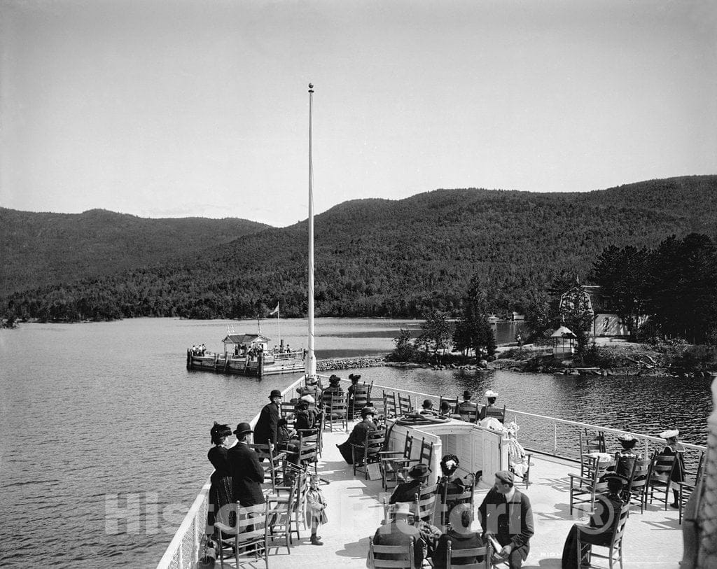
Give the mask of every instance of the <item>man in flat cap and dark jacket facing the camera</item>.
M 495 473 L 495 484 L 478 508 L 483 535 L 492 535 L 500 544 L 496 554 L 508 560 L 510 569 L 519 568 L 528 557 L 533 530 L 533 510 L 526 494 L 513 485 L 513 473 Z

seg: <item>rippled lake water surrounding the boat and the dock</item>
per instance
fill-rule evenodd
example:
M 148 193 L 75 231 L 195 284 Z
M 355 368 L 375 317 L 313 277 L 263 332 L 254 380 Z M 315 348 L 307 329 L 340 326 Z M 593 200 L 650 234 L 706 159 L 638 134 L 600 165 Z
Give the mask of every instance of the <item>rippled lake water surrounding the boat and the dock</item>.
M 232 324 L 230 324 L 231 326 Z M 233 322 L 253 333 L 255 321 Z M 305 347 L 305 320 L 282 320 Z M 387 353 L 409 320 L 318 319 L 318 358 Z M 154 567 L 211 472 L 213 421 L 248 421 L 272 388 L 185 368 L 186 348 L 220 350 L 224 321 L 137 319 L 0 330 L 0 565 Z M 276 343 L 277 322 L 262 322 Z M 515 325 L 499 325 L 498 341 Z M 508 407 L 704 444 L 707 381 L 576 378 L 370 368 L 363 380 L 455 396 L 493 389 Z M 341 374 L 339 374 L 341 375 Z M 344 374 L 348 375 L 348 372 Z M 527 429 L 526 429 L 527 430 Z M 127 522 L 130 520 L 130 522 Z M 28 537 L 42 537 L 42 545 Z

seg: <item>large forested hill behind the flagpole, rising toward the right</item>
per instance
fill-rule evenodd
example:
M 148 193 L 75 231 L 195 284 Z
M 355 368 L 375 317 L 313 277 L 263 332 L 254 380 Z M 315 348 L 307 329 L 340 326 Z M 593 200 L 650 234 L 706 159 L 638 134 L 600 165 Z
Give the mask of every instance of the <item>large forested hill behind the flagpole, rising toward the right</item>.
M 585 277 L 609 245 L 671 234 L 717 242 L 717 176 L 588 193 L 436 190 L 348 201 L 315 219 L 317 315 L 456 312 L 479 274 L 496 312 L 523 310 L 562 270 Z M 78 244 L 79 246 L 79 244 Z M 266 229 L 191 261 L 86 279 L 11 299 L 40 317 L 305 315 L 306 222 Z

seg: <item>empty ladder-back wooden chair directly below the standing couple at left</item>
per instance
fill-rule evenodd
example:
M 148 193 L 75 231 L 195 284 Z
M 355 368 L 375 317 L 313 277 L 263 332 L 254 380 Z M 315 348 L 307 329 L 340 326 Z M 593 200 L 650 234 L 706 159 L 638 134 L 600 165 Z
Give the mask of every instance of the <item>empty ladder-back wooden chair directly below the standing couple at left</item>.
M 267 511 L 268 504 L 257 504 L 255 506 L 242 507 L 236 505 L 237 525 L 229 527 L 221 522 L 215 522 L 219 538 L 219 563 L 224 567 L 224 547 L 222 545 L 231 543 L 234 547 L 236 567 L 239 568 L 247 563 L 255 563 L 257 558 L 264 559 L 266 569 L 269 569 L 269 557 L 267 548 Z M 227 539 L 227 538 L 232 538 Z M 251 548 L 247 551 L 247 548 Z

